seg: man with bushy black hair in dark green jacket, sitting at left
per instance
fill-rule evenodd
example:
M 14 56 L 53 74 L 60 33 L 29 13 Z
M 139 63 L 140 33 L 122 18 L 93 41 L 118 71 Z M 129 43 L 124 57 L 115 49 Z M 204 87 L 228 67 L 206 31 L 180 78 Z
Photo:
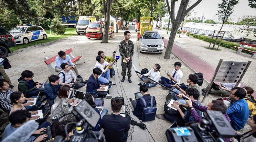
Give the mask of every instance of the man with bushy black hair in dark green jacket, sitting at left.
M 18 79 L 18 90 L 23 92 L 26 98 L 37 96 L 39 92 L 35 91 L 35 88 L 40 88 L 42 82 L 34 82 L 34 73 L 29 70 L 24 70 L 21 73 L 21 77 Z

